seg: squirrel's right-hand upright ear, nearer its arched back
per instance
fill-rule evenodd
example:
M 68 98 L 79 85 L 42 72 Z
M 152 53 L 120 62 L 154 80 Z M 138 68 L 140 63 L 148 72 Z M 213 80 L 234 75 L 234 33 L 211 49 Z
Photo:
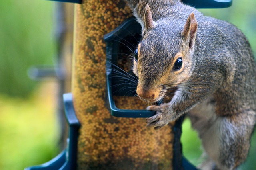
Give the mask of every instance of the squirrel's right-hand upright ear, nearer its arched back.
M 196 21 L 195 14 L 192 12 L 188 16 L 188 20 L 183 28 L 182 35 L 185 39 L 189 38 L 189 47 L 193 47 L 196 39 L 198 23 Z

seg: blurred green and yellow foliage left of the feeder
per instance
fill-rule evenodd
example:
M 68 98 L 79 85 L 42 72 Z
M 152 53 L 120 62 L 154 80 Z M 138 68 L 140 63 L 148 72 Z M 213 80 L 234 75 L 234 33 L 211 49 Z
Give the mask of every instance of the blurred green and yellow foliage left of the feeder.
M 44 88 L 27 70 L 52 65 L 54 2 L 0 1 L 0 170 L 22 170 L 58 154 L 56 86 Z M 37 87 L 37 88 L 36 88 Z

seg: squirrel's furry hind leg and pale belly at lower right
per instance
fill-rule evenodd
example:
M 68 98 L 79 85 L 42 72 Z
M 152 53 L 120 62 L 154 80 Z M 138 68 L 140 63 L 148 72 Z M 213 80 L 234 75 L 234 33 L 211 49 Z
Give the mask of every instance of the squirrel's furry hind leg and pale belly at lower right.
M 197 128 L 202 145 L 215 162 L 216 169 L 234 170 L 244 162 L 254 129 L 254 116 L 254 111 L 224 117 L 213 116 L 206 121 L 208 125 L 204 129 Z M 207 168 L 209 167 L 202 167 L 203 170 Z

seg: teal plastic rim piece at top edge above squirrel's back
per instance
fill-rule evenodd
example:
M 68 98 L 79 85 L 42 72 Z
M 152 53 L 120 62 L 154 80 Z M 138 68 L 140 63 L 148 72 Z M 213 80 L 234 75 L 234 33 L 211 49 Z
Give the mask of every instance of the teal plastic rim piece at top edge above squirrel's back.
M 182 0 L 182 2 L 195 8 L 227 8 L 232 5 L 232 0 Z

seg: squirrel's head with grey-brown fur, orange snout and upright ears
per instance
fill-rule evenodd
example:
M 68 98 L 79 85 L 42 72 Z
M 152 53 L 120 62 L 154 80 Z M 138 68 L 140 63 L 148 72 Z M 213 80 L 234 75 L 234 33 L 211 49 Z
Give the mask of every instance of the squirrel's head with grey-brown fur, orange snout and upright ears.
M 192 74 L 198 24 L 194 13 L 183 24 L 168 18 L 155 23 L 148 4 L 145 11 L 143 39 L 134 52 L 133 72 L 138 76 L 138 96 L 156 102 Z

